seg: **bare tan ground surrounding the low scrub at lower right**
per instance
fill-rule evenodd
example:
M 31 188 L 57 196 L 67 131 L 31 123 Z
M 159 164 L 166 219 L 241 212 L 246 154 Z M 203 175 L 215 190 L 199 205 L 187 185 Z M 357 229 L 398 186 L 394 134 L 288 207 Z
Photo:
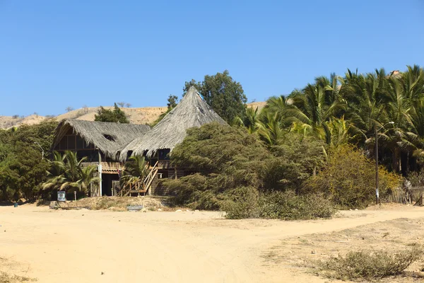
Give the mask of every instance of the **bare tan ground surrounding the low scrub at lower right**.
M 319 261 L 346 255 L 349 251 L 375 250 L 396 253 L 409 250 L 414 244 L 423 244 L 424 219 L 395 219 L 358 226 L 333 233 L 314 233 L 286 238 L 264 255 L 269 267 L 285 267 L 292 272 L 322 276 L 317 268 Z M 380 282 L 409 283 L 423 280 L 424 262 L 414 262 L 396 277 L 386 277 Z M 365 282 L 365 281 L 363 281 Z

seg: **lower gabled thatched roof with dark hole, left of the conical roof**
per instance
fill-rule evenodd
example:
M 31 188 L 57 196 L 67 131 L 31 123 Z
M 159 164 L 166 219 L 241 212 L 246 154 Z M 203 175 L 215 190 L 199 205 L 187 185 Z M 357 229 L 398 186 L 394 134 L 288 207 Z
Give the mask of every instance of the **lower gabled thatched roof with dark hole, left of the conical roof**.
M 53 146 L 59 143 L 64 135 L 72 130 L 96 148 L 105 156 L 116 158 L 117 151 L 130 141 L 140 137 L 151 129 L 148 125 L 119 124 L 112 122 L 95 122 L 83 120 L 63 120 L 59 123 L 54 134 Z

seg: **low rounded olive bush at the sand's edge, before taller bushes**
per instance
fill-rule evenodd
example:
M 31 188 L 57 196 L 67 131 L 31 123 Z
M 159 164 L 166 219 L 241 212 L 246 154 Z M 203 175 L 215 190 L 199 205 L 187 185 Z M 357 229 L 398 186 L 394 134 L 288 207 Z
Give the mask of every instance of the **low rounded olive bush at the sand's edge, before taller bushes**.
M 259 216 L 271 219 L 331 218 L 334 204 L 319 195 L 295 195 L 292 191 L 266 192 L 259 197 Z

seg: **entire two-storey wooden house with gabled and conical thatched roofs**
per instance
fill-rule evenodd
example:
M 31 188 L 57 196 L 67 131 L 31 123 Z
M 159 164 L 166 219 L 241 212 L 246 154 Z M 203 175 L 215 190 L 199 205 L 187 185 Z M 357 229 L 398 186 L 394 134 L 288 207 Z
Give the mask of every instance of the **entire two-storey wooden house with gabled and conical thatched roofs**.
M 187 129 L 211 122 L 226 123 L 191 87 L 153 129 L 146 125 L 64 120 L 57 127 L 52 150 L 76 151 L 79 158 L 87 157 L 88 164 L 98 165 L 102 185 L 92 196 L 154 194 L 161 178 L 193 173 L 173 167 L 170 153 L 187 136 Z M 142 181 L 114 190 L 129 156 L 145 156 L 148 175 Z

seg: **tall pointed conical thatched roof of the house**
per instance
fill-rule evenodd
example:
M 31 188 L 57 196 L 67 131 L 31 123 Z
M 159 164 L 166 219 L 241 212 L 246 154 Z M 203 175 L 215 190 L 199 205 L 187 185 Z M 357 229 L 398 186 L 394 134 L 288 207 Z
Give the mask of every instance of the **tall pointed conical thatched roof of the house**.
M 131 141 L 122 149 L 119 158 L 125 160 L 129 151 L 132 155 L 152 156 L 158 149 L 174 149 L 186 137 L 186 131 L 192 127 L 225 121 L 200 97 L 196 88 L 192 86 L 177 106 L 172 109 L 163 120 L 143 137 Z

